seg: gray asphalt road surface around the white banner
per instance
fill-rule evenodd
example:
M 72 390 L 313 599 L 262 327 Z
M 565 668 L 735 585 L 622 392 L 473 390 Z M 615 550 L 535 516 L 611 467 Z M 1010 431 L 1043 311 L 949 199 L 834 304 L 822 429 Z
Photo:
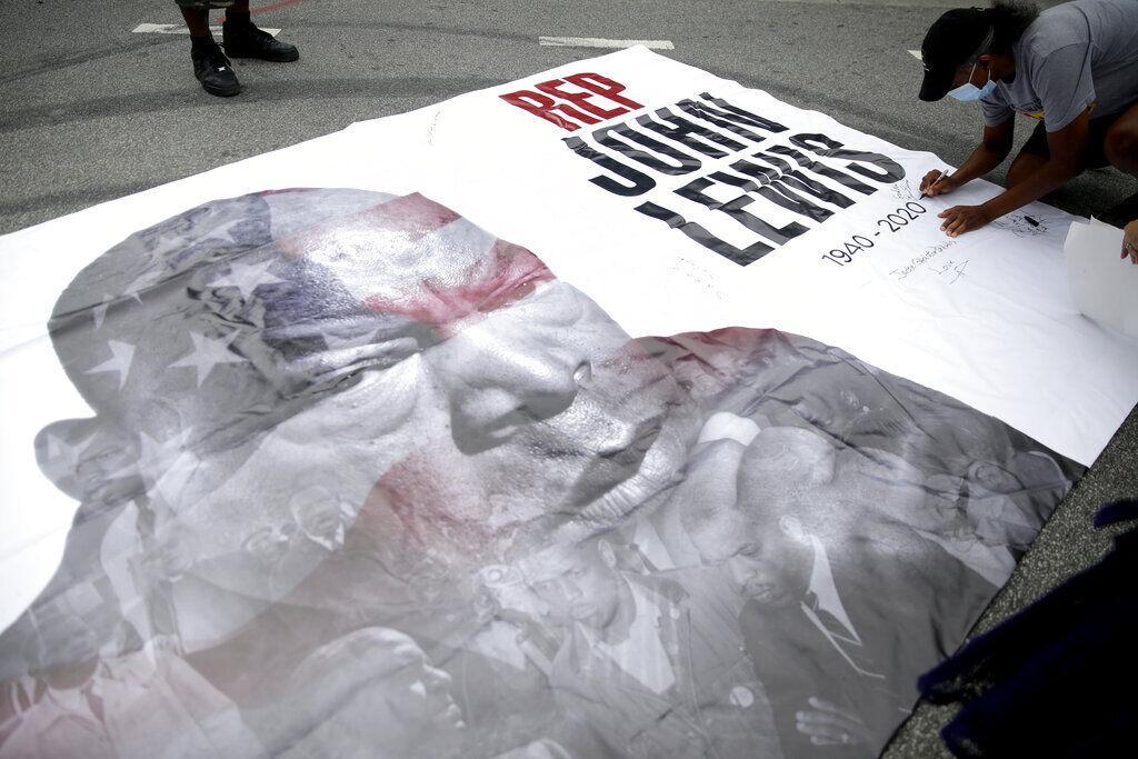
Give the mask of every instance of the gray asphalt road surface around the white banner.
M 678 60 L 958 165 L 974 106 L 916 99 L 917 49 L 947 0 L 253 0 L 255 19 L 300 48 L 296 64 L 234 61 L 245 91 L 206 94 L 173 0 L 0 3 L 0 233 L 332 132 L 604 52 L 539 36 L 670 40 Z M 1049 0 L 1041 5 L 1055 5 Z M 216 11 L 215 11 L 216 13 Z M 1028 130 L 1020 130 L 1020 140 Z M 995 180 L 1003 181 L 1003 172 Z M 1088 172 L 1047 200 L 1100 213 L 1133 180 Z M 224 195 L 224 188 L 218 188 Z M 1056 356 L 1056 371 L 1078 370 Z M 1061 505 L 978 629 L 1097 560 L 1091 515 L 1138 497 L 1138 413 Z M 887 757 L 943 754 L 951 709 L 922 706 Z

